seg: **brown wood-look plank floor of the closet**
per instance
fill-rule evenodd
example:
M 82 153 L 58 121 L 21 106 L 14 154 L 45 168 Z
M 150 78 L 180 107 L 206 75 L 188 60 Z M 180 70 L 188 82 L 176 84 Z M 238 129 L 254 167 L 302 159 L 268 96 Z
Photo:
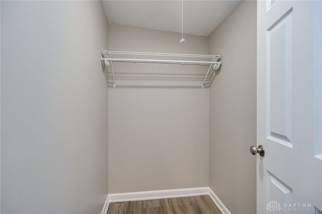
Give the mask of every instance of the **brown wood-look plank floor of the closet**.
M 221 214 L 209 195 L 110 203 L 107 214 Z

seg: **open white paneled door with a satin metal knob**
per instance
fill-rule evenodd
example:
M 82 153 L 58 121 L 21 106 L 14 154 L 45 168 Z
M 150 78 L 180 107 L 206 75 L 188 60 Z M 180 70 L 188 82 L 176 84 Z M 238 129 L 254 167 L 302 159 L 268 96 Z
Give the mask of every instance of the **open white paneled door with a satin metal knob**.
M 257 7 L 257 212 L 322 213 L 322 2 Z

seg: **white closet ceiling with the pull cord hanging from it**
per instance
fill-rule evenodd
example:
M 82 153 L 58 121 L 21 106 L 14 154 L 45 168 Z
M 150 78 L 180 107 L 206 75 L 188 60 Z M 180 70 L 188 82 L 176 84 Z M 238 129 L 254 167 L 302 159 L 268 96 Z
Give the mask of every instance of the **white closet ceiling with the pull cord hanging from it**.
M 183 3 L 183 32 L 209 36 L 243 1 Z M 182 1 L 102 1 L 109 23 L 181 33 Z

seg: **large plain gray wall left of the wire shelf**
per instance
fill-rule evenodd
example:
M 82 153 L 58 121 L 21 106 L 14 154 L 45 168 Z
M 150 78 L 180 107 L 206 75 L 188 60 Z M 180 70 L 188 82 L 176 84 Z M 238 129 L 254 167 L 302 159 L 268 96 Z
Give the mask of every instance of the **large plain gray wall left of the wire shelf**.
M 108 88 L 99 1 L 1 1 L 1 213 L 100 213 Z

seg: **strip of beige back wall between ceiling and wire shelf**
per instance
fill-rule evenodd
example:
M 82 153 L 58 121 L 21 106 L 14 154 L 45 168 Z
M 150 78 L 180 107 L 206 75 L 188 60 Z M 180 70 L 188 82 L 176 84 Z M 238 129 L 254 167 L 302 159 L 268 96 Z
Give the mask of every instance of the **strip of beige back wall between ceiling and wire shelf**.
M 109 49 L 156 53 L 208 54 L 208 37 L 109 24 Z

